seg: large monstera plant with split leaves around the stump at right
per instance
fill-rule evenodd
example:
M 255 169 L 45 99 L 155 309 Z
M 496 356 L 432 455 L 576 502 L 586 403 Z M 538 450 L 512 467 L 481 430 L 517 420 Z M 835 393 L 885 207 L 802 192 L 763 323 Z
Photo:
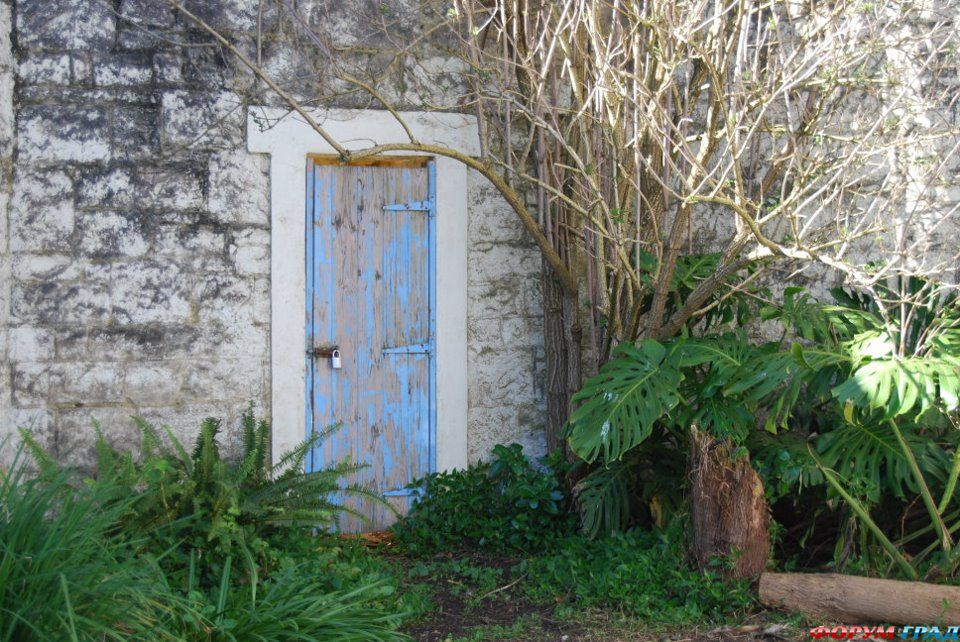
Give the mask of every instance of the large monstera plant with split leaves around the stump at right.
M 933 549 L 943 553 L 935 566 L 953 573 L 960 565 L 953 541 L 960 514 L 948 509 L 960 449 L 951 454 L 927 435 L 958 425 L 957 294 L 904 278 L 869 294 L 836 289 L 833 295 L 836 304 L 824 305 L 792 288 L 781 305 L 761 310 L 784 326 L 789 341 L 757 344 L 734 331 L 619 346 L 574 397 L 567 426 L 571 449 L 593 464 L 580 483 L 585 528 L 599 533 L 628 522 L 631 483 L 643 461 L 637 453 L 651 435 L 682 435 L 697 426 L 743 443 L 761 425 L 772 433 L 795 425 L 801 403 L 819 404 L 837 418 L 833 430 L 806 445 L 820 479 L 909 577 L 918 576 L 931 547 L 908 561 L 871 518 L 869 500 L 884 488 L 919 496 L 928 518 L 921 530 L 936 535 Z M 865 491 L 848 488 L 854 478 Z

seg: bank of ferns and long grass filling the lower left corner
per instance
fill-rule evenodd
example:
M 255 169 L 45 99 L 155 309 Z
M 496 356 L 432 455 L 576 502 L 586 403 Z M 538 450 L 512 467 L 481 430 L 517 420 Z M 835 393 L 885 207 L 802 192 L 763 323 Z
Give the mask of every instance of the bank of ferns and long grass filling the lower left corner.
M 98 434 L 92 473 L 24 435 L 38 472 L 21 454 L 0 485 L 0 639 L 408 639 L 390 567 L 325 532 L 331 492 L 366 493 L 348 463 L 302 472 L 325 435 L 271 465 L 252 413 L 236 460 L 216 420 L 192 452 L 138 426 L 138 457 Z

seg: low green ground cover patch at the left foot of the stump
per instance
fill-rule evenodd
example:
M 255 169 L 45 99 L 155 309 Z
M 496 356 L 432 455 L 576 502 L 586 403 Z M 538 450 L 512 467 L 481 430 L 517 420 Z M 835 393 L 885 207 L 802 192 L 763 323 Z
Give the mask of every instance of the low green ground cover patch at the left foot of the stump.
M 723 622 L 753 605 L 745 582 L 693 568 L 677 523 L 595 540 L 567 538 L 519 570 L 535 600 L 614 608 L 651 623 Z

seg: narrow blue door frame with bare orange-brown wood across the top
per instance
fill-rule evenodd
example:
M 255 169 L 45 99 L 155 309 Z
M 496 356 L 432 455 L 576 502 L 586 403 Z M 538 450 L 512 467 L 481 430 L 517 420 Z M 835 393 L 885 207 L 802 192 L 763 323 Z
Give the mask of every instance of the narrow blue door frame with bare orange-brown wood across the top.
M 349 165 L 344 165 L 337 162 L 337 156 L 329 154 L 308 154 L 306 161 L 312 161 L 312 166 L 323 165 L 327 167 L 384 167 L 384 168 L 396 168 L 398 170 L 402 169 L 423 169 L 427 172 L 427 199 L 426 201 L 416 203 L 415 206 L 420 209 L 425 209 L 425 211 L 419 215 L 426 215 L 427 217 L 427 307 L 428 307 L 428 319 L 427 319 L 427 341 L 430 345 L 430 352 L 427 356 L 428 359 L 428 371 L 427 371 L 427 400 L 428 400 L 428 414 L 427 414 L 427 470 L 425 472 L 435 472 L 437 470 L 437 165 L 436 157 L 434 156 L 369 156 L 359 163 L 350 163 Z M 307 168 L 311 167 L 310 164 L 304 162 L 304 172 L 306 173 Z M 310 172 L 306 175 L 306 191 L 305 194 L 310 193 L 315 189 L 313 184 L 314 176 L 313 172 Z M 311 210 L 310 206 L 316 208 L 314 198 L 310 196 L 305 196 L 306 198 L 306 207 L 305 217 L 304 217 L 304 228 L 306 236 L 304 238 L 304 246 L 306 247 L 306 260 L 304 262 L 305 270 L 307 273 L 307 283 L 306 289 L 308 293 L 316 293 L 317 284 L 311 278 L 312 270 L 315 269 L 314 260 L 315 255 L 309 246 L 311 240 L 315 240 L 313 237 L 317 233 L 316 227 L 314 225 L 316 220 L 316 212 Z M 403 208 L 397 208 L 396 205 L 399 203 L 389 203 L 388 207 L 390 209 L 400 209 L 403 211 Z M 384 208 L 387 209 L 387 208 Z M 384 212 L 378 212 L 377 215 L 384 215 Z M 309 322 L 312 322 L 314 319 L 313 314 L 313 299 L 307 298 L 306 302 L 306 318 L 309 319 Z M 336 318 L 334 316 L 334 318 Z M 305 321 L 306 323 L 309 323 Z M 309 328 L 307 330 L 306 342 L 307 344 L 311 341 L 311 335 L 314 335 L 317 332 L 317 328 Z M 304 395 L 306 397 L 306 416 L 304 421 L 306 422 L 305 434 L 309 435 L 311 428 L 324 429 L 326 426 L 312 426 L 314 418 L 314 406 L 313 400 L 314 395 L 313 387 L 314 375 L 316 374 L 316 368 L 318 365 L 318 359 L 314 356 L 311 356 L 309 353 L 306 356 L 306 363 L 304 368 L 307 373 Z M 331 437 L 336 439 L 336 437 Z M 313 455 L 307 457 L 305 463 L 307 472 L 313 472 Z M 386 472 L 386 471 L 384 471 Z M 420 475 L 418 475 L 419 477 Z M 409 481 L 413 481 L 412 479 Z M 398 495 L 408 495 L 409 491 L 391 491 L 385 492 L 384 496 L 398 496 Z

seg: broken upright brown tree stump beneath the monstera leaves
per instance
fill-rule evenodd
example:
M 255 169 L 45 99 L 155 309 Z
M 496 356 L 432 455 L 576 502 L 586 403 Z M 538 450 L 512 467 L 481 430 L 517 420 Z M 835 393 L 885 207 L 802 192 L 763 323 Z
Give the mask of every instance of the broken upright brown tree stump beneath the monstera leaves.
M 747 456 L 691 427 L 690 518 L 693 554 L 701 569 L 717 557 L 726 577 L 755 578 L 770 554 L 770 513 L 763 483 Z

